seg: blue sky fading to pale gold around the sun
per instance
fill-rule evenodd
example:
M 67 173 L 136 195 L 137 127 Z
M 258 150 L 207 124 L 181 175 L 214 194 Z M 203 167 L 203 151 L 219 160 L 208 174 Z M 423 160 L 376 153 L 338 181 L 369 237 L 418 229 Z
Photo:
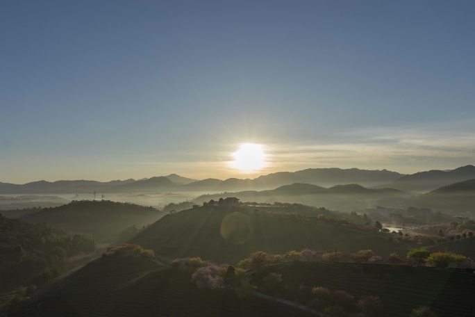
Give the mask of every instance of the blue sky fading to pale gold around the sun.
M 0 181 L 475 163 L 474 1 L 0 1 Z M 267 164 L 231 168 L 241 143 Z

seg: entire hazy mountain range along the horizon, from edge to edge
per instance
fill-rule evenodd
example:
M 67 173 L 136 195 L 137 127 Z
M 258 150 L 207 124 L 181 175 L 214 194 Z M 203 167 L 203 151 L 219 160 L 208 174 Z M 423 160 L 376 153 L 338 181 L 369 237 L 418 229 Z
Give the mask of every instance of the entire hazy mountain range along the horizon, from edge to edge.
M 475 179 L 475 166 L 455 170 L 429 170 L 415 174 L 400 174 L 389 170 L 358 168 L 309 168 L 297 172 L 275 172 L 255 179 L 190 179 L 178 174 L 148 179 L 115 181 L 61 180 L 33 181 L 27 184 L 0 182 L 0 194 L 74 194 L 74 193 L 158 193 L 166 191 L 223 192 L 238 190 L 271 190 L 290 184 L 310 184 L 331 187 L 359 184 L 365 187 L 394 188 L 428 192 L 442 186 Z M 315 188 L 313 188 L 315 190 Z

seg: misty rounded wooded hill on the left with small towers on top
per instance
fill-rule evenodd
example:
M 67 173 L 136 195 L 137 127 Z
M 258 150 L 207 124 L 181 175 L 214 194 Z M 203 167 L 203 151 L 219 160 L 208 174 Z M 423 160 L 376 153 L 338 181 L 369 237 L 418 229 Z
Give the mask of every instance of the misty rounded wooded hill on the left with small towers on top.
M 152 207 L 108 200 L 82 200 L 41 209 L 22 217 L 22 220 L 89 234 L 98 242 L 115 242 L 125 229 L 134 225 L 140 228 L 156 221 L 160 216 L 160 212 Z

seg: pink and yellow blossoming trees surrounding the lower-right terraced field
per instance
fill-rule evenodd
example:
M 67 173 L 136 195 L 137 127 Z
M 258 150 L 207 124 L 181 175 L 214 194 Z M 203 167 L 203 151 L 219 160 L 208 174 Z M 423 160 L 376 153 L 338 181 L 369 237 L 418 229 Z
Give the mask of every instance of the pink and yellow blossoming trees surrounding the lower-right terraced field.
M 333 254 L 332 256 L 330 254 Z M 338 257 L 338 252 L 336 253 Z M 341 255 L 341 254 L 340 254 Z M 371 262 L 375 258 L 383 261 L 372 250 L 360 250 L 353 254 L 347 254 L 348 261 Z M 273 272 L 274 266 L 269 264 L 276 261 L 312 261 L 315 259 L 333 260 L 335 252 L 317 254 L 313 250 L 290 251 L 285 254 L 267 254 L 258 251 L 249 254 L 236 267 L 203 261 L 199 257 L 174 260 L 172 265 L 175 268 L 183 268 L 192 272 L 192 282 L 199 288 L 227 288 L 235 291 L 238 297 L 248 297 L 256 291 L 269 295 L 276 295 L 278 298 L 289 298 L 305 304 L 310 309 L 323 311 L 328 317 L 344 316 L 383 316 L 383 303 L 377 295 L 355 296 L 351 293 L 326 288 L 323 286 L 312 286 L 299 284 L 297 292 L 291 291 L 282 275 Z M 466 257 L 458 254 L 447 254 L 443 252 L 429 252 L 425 249 L 415 249 L 408 252 L 406 259 L 402 259 L 397 254 L 391 254 L 384 261 L 393 263 L 432 263 L 435 266 L 447 267 L 451 263 L 462 263 Z M 296 296 L 297 294 L 297 296 Z M 429 307 L 417 307 L 412 310 L 411 317 L 437 317 Z

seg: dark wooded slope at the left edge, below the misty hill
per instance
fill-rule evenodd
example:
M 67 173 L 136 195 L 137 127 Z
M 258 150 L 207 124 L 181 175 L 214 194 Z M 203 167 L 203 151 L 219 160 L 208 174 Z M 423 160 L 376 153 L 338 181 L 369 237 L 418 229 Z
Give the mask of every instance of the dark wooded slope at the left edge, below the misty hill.
M 69 257 L 95 250 L 92 238 L 0 216 L 2 288 L 42 284 L 65 268 Z

